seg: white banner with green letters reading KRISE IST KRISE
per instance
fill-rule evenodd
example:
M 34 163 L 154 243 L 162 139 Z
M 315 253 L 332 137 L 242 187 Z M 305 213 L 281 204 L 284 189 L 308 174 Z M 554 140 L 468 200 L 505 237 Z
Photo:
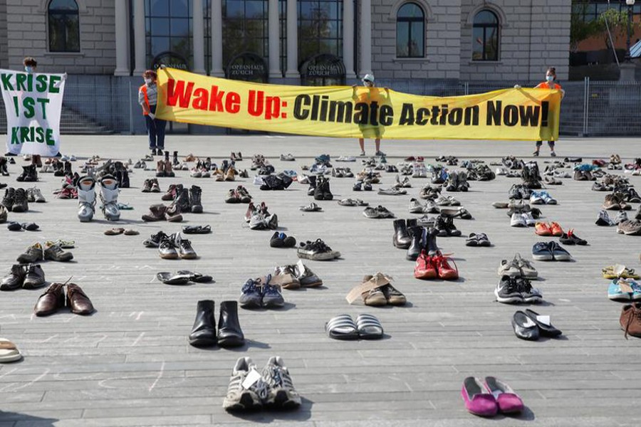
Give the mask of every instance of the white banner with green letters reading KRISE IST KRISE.
M 58 154 L 65 80 L 65 74 L 0 70 L 7 152 Z

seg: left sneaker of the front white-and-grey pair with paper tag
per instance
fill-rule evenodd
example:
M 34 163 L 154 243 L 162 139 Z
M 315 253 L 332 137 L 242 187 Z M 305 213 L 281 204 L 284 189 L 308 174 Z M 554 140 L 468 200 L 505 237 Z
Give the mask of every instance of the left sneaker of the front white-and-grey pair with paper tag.
M 260 374 L 258 380 L 254 381 L 251 386 L 243 386 L 250 371 L 257 371 L 257 369 L 249 357 L 241 357 L 236 361 L 223 401 L 225 411 L 258 411 L 263 407 L 262 402 L 267 399 L 268 387 L 261 379 Z

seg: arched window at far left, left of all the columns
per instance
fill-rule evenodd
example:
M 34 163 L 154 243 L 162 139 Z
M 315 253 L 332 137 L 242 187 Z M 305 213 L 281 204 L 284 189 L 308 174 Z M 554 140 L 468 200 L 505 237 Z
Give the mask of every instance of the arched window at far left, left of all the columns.
M 47 8 L 50 52 L 80 52 L 80 23 L 75 0 L 51 0 Z

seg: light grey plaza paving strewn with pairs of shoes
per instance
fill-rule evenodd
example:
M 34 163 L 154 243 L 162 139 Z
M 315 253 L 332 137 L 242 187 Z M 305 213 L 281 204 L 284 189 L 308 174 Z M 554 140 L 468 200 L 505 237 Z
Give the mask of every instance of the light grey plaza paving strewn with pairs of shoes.
M 367 143 L 372 150 L 371 142 Z M 629 161 L 640 157 L 637 139 L 563 139 L 561 157 L 620 154 Z M 384 141 L 382 149 L 392 163 L 408 155 L 496 161 L 508 154 L 528 159 L 530 142 L 413 142 Z M 313 157 L 358 152 L 350 139 L 241 136 L 197 137 L 170 135 L 167 148 L 182 156 L 192 152 L 219 162 L 229 152 L 246 157 L 239 166 L 249 169 L 251 154 L 269 157 L 278 171 L 294 169 Z M 63 152 L 81 159 L 99 154 L 114 159 L 140 158 L 145 137 L 63 136 Z M 280 162 L 291 152 L 296 162 Z M 543 147 L 547 154 L 547 147 Z M 538 158 L 543 169 L 550 161 Z M 21 164 L 22 160 L 18 159 Z M 19 164 L 0 182 L 17 186 Z M 335 167 L 361 169 L 355 163 Z M 621 173 L 621 172 L 617 172 Z M 496 267 L 504 258 L 521 253 L 530 258 L 531 246 L 547 240 L 532 229 L 509 226 L 505 211 L 491 207 L 506 201 L 507 189 L 520 180 L 499 176 L 494 181 L 471 182 L 466 194 L 452 194 L 474 216 L 456 221 L 464 236 L 484 232 L 491 248 L 469 248 L 464 238 L 439 238 L 444 252 L 453 253 L 461 279 L 456 282 L 413 278 L 414 263 L 405 251 L 393 248 L 392 221 L 365 218 L 362 209 L 320 202 L 322 213 L 303 213 L 307 186 L 294 183 L 287 191 L 259 191 L 251 179 L 221 183 L 192 179 L 177 172 L 175 179 L 159 179 L 163 190 L 181 182 L 203 188 L 204 214 L 187 214 L 182 224 L 144 223 L 147 206 L 160 202 L 158 194 L 140 192 L 152 172 L 132 174 L 132 188 L 123 189 L 120 201 L 134 206 L 123 211 L 118 223 L 79 223 L 77 201 L 55 199 L 51 192 L 60 179 L 41 174 L 38 188 L 46 204 L 31 204 L 27 214 L 9 214 L 10 220 L 35 221 L 37 233 L 7 231 L 0 226 L 1 265 L 8 271 L 21 251 L 35 241 L 75 240 L 73 263 L 43 263 L 46 278 L 64 282 L 70 276 L 93 301 L 97 312 L 80 317 L 60 312 L 46 318 L 32 315 L 41 290 L 0 292 L 0 335 L 19 345 L 22 362 L 0 365 L 0 427 L 66 426 L 210 426 L 270 423 L 314 427 L 347 426 L 632 426 L 641 421 L 633 404 L 639 394 L 641 372 L 638 339 L 625 340 L 618 319 L 620 304 L 606 296 L 608 281 L 600 269 L 613 263 L 640 268 L 641 239 L 621 236 L 615 228 L 594 225 L 603 193 L 590 191 L 591 183 L 563 179 L 548 189 L 558 206 L 543 206 L 546 221 L 575 228 L 590 246 L 570 247 L 572 263 L 537 262 L 536 286 L 545 302 L 533 310 L 552 316 L 563 339 L 524 342 L 511 331 L 510 319 L 521 307 L 494 301 Z M 394 174 L 382 173 L 381 186 L 390 186 Z M 630 180 L 637 187 L 639 176 Z M 246 205 L 223 203 L 225 192 L 245 185 L 255 201 L 265 201 L 278 214 L 281 230 L 298 240 L 323 238 L 342 253 L 340 260 L 308 261 L 325 285 L 319 289 L 284 291 L 283 310 L 241 310 L 248 344 L 241 349 L 196 349 L 187 344 L 198 300 L 235 300 L 248 279 L 269 273 L 275 265 L 296 263 L 292 249 L 269 248 L 269 231 L 251 231 L 242 216 Z M 410 218 L 407 202 L 426 179 L 412 179 L 407 196 L 355 193 L 353 179 L 331 179 L 335 200 L 359 197 L 386 206 L 400 218 Z M 637 204 L 634 205 L 635 209 Z M 148 235 L 179 231 L 186 224 L 211 224 L 213 233 L 191 236 L 198 260 L 161 260 L 157 251 L 142 246 Z M 136 228 L 140 236 L 105 236 L 113 226 Z M 196 270 L 214 276 L 215 283 L 167 286 L 155 280 L 157 271 Z M 345 295 L 365 274 L 382 271 L 395 278 L 405 293 L 406 307 L 374 308 L 348 305 Z M 218 310 L 218 308 L 217 308 Z M 338 342 L 326 337 L 325 322 L 334 315 L 361 312 L 377 315 L 387 337 L 372 342 Z M 259 367 L 279 354 L 291 369 L 303 407 L 294 413 L 261 412 L 234 416 L 222 410 L 231 367 L 249 355 Z M 521 393 L 528 407 L 518 418 L 499 416 L 484 420 L 469 415 L 460 398 L 465 376 L 496 375 Z M 621 402 L 625 404 L 622 411 Z

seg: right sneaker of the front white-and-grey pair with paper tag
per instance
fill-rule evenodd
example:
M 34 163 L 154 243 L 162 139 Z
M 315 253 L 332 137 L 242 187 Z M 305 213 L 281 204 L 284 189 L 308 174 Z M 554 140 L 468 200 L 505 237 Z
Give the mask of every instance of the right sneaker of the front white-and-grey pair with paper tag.
M 296 409 L 301 406 L 301 396 L 294 389 L 289 370 L 280 356 L 272 356 L 261 371 L 261 379 L 267 384 L 264 404 L 280 410 Z

